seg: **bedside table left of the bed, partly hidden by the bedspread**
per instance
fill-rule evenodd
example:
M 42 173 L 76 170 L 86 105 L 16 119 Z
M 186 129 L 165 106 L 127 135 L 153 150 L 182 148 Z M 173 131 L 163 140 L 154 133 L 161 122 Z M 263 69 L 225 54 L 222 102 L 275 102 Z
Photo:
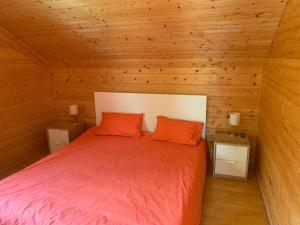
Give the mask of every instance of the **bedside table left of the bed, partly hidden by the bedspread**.
M 46 128 L 50 152 L 69 144 L 85 131 L 84 123 L 57 121 Z

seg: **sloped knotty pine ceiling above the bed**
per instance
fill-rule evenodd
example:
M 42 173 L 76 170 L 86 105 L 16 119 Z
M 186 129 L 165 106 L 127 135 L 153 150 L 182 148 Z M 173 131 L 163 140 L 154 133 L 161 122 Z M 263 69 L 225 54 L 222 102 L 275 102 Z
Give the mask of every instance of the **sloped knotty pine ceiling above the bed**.
M 264 58 L 287 0 L 9 0 L 0 24 L 47 62 Z

